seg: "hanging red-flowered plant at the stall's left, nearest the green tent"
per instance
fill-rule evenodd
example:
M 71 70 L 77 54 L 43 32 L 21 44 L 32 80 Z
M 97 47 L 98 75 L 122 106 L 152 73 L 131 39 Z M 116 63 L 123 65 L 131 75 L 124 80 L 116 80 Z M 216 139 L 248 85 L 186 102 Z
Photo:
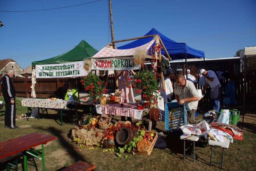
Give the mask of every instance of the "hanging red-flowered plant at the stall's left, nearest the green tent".
M 100 80 L 99 75 L 89 73 L 80 82 L 84 85 L 84 90 L 89 94 L 89 98 L 93 98 L 94 103 L 97 99 L 102 98 L 103 93 L 105 94 L 107 91 L 103 88 L 106 83 Z M 86 97 L 84 99 L 86 100 Z

